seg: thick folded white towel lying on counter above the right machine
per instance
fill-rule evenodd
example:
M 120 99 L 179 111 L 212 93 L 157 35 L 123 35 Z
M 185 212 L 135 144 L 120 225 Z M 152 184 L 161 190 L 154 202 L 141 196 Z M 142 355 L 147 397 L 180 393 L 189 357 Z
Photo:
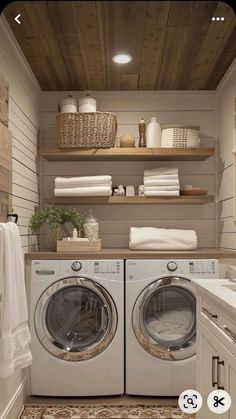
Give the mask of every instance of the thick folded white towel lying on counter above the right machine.
M 129 247 L 132 250 L 193 250 L 197 248 L 197 234 L 194 230 L 130 227 Z

